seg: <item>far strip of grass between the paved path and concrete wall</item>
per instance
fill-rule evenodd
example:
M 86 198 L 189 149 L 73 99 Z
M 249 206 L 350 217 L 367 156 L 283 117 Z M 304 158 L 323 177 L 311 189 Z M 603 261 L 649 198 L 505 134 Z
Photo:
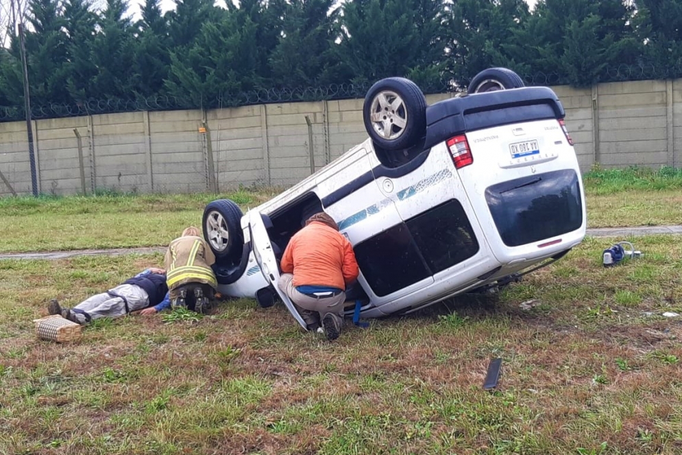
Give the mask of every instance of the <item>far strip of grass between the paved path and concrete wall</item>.
M 677 170 L 593 170 L 585 178 L 589 227 L 682 224 L 682 172 Z M 86 248 L 162 246 L 185 226 L 201 226 L 204 206 L 230 198 L 243 209 L 277 191 L 236 191 L 219 196 L 3 198 L 0 216 L 10 235 L 0 253 Z

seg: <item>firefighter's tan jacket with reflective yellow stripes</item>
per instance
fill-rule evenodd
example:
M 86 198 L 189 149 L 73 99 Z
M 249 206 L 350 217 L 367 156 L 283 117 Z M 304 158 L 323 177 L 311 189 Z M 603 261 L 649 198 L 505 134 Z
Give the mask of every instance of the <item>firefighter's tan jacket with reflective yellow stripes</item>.
M 164 262 L 171 294 L 178 286 L 187 283 L 204 283 L 217 288 L 215 273 L 210 268 L 215 264 L 215 255 L 201 237 L 186 235 L 173 240 Z

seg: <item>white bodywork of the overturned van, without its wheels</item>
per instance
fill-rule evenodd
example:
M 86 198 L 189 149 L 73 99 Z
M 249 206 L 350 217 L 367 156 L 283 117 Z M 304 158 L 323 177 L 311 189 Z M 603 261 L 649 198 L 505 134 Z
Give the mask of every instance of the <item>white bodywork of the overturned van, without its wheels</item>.
M 413 312 L 483 288 L 558 257 L 583 240 L 585 198 L 574 148 L 558 121 L 563 108 L 552 100 L 553 92 L 548 89 L 515 91 L 512 95 L 472 95 L 474 100 L 462 104 L 484 109 L 486 96 L 487 100 L 503 100 L 506 104 L 500 104 L 500 109 L 504 113 L 485 113 L 500 119 L 499 125 L 491 126 L 489 117 L 459 109 L 459 104 L 449 100 L 433 111 L 441 112 L 440 117 L 427 115 L 428 128 L 435 125 L 437 130 L 427 130 L 426 141 L 429 137 L 439 141 L 405 164 L 387 167 L 373 141 L 367 139 L 243 216 L 241 225 L 245 233 L 250 231 L 256 252 L 253 260 L 265 274 L 265 283 L 273 285 L 303 327 L 295 307 L 277 288 L 279 270 L 268 237 L 282 231 L 278 223 L 284 222 L 278 220 L 287 218 L 294 207 L 295 213 L 304 213 L 297 206 L 302 200 L 319 201 L 319 209 L 337 221 L 339 231 L 353 244 L 361 264 L 358 283 L 366 294 L 361 299 L 363 317 Z M 546 106 L 510 104 L 509 100 L 523 93 L 536 96 Z M 515 109 L 523 121 L 505 123 Z M 467 130 L 467 125 L 485 128 Z M 446 144 L 448 128 L 465 135 L 472 164 L 456 168 Z M 553 207 L 559 207 L 560 213 L 553 213 Z M 272 228 L 265 226 L 263 215 L 271 219 Z M 286 224 L 291 230 L 291 220 Z M 538 226 L 537 239 L 526 233 L 533 226 Z M 284 248 L 286 242 L 280 246 Z M 264 281 L 252 277 L 258 265 L 252 266 L 251 261 L 249 257 L 243 278 L 249 284 L 235 283 L 221 290 L 248 294 L 249 286 L 253 292 L 262 288 Z M 395 281 L 387 283 L 391 279 Z

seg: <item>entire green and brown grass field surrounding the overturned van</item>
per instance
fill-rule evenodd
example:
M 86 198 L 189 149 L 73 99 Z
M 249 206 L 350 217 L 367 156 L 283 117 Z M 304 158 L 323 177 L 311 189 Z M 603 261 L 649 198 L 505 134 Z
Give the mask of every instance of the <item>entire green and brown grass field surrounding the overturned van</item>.
M 679 191 L 674 178 L 648 176 L 670 180 L 649 189 L 592 178 L 589 216 L 589 201 L 627 196 L 661 201 L 674 223 L 678 205 L 661 198 Z M 74 221 L 71 235 L 41 237 L 45 248 L 97 229 L 101 246 L 126 229 L 139 246 L 153 226 L 164 244 L 177 230 L 169 220 L 198 224 L 212 198 L 107 197 L 0 200 L 3 222 L 25 217 L 5 228 L 3 246 L 28 246 L 35 220 L 58 220 L 63 233 L 93 213 L 86 207 L 99 224 Z M 651 211 L 628 215 L 616 225 L 647 224 Z M 662 316 L 682 314 L 680 239 L 637 237 L 644 257 L 602 268 L 615 240 L 588 237 L 498 296 L 461 296 L 369 329 L 347 323 L 334 343 L 300 331 L 281 306 L 242 299 L 201 318 L 97 320 L 82 340 L 56 345 L 37 340 L 32 323 L 51 297 L 73 305 L 162 257 L 2 260 L 0 454 L 682 453 L 682 317 Z M 496 357 L 500 386 L 485 392 Z

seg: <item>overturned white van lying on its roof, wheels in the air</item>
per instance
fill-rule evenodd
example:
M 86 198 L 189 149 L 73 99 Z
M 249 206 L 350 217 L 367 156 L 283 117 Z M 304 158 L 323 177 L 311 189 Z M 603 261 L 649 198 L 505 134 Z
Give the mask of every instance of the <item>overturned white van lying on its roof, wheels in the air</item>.
M 413 82 L 376 82 L 363 108 L 369 138 L 243 214 L 204 211 L 220 292 L 261 305 L 278 294 L 278 257 L 325 211 L 354 246 L 360 277 L 348 312 L 412 312 L 515 281 L 585 236 L 585 196 L 565 112 L 547 87 L 508 69 L 482 71 L 469 94 L 426 106 Z

